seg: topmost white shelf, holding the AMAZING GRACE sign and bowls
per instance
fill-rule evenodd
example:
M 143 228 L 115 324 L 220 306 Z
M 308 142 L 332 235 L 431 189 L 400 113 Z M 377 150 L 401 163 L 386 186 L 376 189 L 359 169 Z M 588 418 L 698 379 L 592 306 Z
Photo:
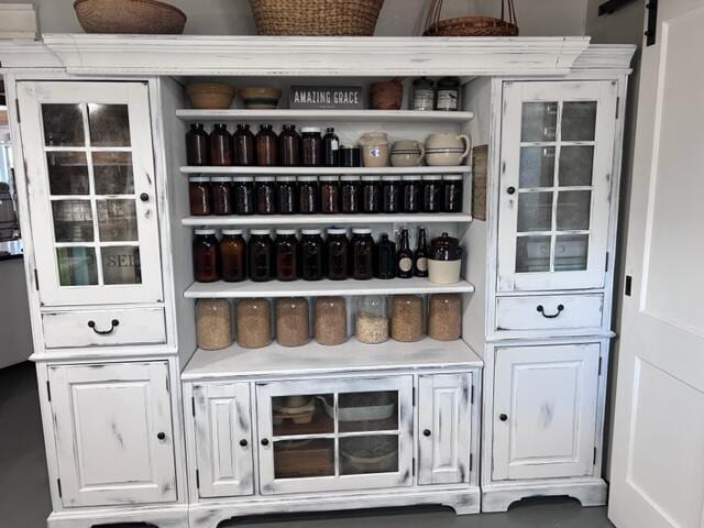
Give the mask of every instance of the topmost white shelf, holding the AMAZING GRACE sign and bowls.
M 184 121 L 216 122 L 251 121 L 314 121 L 314 122 L 389 122 L 389 123 L 463 123 L 474 119 L 474 112 L 442 112 L 416 110 L 176 110 Z

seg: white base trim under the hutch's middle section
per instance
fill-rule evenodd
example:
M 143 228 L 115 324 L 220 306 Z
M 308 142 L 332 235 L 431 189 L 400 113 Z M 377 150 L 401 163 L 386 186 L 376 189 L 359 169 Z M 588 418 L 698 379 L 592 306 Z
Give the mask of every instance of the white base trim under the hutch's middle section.
M 328 512 L 342 509 L 381 508 L 437 504 L 449 506 L 458 515 L 479 514 L 479 488 L 450 488 L 433 491 L 383 491 L 362 493 L 338 493 L 332 496 L 296 495 L 271 498 L 232 499 L 191 504 L 190 528 L 217 528 L 223 520 L 245 515 Z

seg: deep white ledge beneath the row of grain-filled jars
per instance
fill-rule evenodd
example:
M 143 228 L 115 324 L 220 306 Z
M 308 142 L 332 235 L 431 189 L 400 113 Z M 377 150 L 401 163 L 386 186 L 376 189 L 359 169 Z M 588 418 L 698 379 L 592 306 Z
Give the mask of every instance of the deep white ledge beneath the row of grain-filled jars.
M 282 346 L 275 341 L 261 349 L 243 349 L 237 343 L 222 350 L 197 349 L 182 374 L 183 380 L 217 380 L 232 376 L 280 376 L 340 371 L 383 369 L 479 367 L 482 360 L 470 346 L 457 341 L 428 337 L 414 343 L 388 340 L 363 344 L 355 338 L 326 346 L 310 341 L 304 346 Z

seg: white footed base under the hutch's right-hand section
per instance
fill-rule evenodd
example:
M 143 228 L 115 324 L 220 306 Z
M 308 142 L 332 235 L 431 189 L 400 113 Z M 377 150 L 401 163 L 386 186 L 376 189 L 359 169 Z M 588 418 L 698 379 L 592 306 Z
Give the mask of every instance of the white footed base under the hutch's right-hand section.
M 482 512 L 506 512 L 512 503 L 529 497 L 569 496 L 582 506 L 606 504 L 607 485 L 602 479 L 549 479 L 514 481 L 482 486 Z

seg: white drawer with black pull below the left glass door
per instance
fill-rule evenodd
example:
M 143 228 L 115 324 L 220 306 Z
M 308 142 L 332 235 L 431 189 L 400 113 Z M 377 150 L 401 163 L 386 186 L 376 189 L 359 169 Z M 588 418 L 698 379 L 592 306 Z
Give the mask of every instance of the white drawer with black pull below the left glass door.
M 47 349 L 166 342 L 163 308 L 42 314 Z

